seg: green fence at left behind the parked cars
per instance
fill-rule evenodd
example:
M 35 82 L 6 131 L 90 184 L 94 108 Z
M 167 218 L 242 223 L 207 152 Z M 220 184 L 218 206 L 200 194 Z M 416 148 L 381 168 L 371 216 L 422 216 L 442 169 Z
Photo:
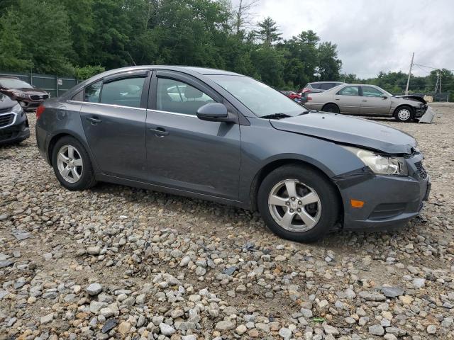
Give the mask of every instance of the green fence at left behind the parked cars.
M 1 76 L 18 77 L 38 89 L 48 91 L 51 97 L 58 97 L 79 83 L 74 77 L 58 77 L 50 74 L 2 72 Z

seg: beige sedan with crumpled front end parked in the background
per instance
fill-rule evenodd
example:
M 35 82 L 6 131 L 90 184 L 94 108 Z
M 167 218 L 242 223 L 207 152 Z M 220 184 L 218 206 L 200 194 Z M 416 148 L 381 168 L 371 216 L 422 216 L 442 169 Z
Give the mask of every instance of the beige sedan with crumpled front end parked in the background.
M 310 94 L 307 108 L 348 115 L 394 117 L 410 122 L 426 113 L 426 101 L 419 96 L 393 96 L 375 85 L 344 84 L 319 94 Z

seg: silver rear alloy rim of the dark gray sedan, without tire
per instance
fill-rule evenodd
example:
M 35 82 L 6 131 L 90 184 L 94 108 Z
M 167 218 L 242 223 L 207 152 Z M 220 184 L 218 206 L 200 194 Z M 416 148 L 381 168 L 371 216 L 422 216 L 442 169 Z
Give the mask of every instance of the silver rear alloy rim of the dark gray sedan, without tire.
M 82 176 L 84 163 L 80 152 L 72 145 L 63 145 L 57 154 L 58 171 L 68 183 L 76 183 Z

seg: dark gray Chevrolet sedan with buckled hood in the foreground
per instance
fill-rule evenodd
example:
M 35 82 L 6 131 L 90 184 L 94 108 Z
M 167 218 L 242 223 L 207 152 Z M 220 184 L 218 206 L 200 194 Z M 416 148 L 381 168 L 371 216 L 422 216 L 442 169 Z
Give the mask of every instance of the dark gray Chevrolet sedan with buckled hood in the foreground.
M 404 225 L 430 188 L 410 135 L 216 69 L 111 70 L 36 115 L 40 154 L 68 190 L 106 181 L 259 210 L 299 242 Z

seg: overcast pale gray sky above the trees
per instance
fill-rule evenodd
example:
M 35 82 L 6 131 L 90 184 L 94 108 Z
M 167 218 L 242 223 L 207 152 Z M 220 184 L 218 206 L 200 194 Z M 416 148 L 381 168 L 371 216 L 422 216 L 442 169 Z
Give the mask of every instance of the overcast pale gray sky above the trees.
M 408 73 L 412 52 L 417 64 L 454 71 L 454 0 L 260 0 L 253 11 L 275 20 L 283 38 L 314 30 L 338 45 L 342 73 Z

